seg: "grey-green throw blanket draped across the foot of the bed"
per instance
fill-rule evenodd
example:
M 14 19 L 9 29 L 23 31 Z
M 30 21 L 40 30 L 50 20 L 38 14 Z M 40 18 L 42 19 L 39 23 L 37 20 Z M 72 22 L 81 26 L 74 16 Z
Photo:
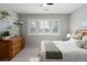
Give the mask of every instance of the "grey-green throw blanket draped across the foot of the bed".
M 55 44 L 53 43 L 45 44 L 45 50 L 46 50 L 47 59 L 62 59 L 63 58 L 62 52 L 59 51 L 58 47 L 56 47 Z

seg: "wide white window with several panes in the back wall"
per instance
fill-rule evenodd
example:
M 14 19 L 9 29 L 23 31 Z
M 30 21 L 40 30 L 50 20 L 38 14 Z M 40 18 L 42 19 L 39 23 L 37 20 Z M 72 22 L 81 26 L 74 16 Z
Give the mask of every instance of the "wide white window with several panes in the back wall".
M 56 35 L 59 33 L 58 20 L 30 20 L 28 25 L 30 35 Z

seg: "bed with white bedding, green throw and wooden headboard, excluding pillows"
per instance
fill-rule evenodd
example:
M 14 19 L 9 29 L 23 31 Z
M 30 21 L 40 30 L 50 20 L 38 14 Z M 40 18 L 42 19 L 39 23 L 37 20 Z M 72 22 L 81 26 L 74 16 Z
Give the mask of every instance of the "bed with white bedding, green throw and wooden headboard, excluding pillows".
M 87 31 L 84 31 L 84 30 L 77 31 L 76 33 L 83 33 L 84 35 L 87 35 Z M 46 44 L 48 46 L 50 46 L 50 44 L 53 44 L 52 48 L 48 48 L 48 46 L 46 46 Z M 55 50 L 54 45 L 59 51 L 59 54 L 54 53 L 55 55 L 56 54 L 59 55 L 59 57 L 57 56 L 57 58 L 51 58 L 52 55 L 53 55 L 53 57 L 55 57 L 55 55 L 52 54 L 51 52 L 48 53 L 50 56 L 47 56 L 46 50 L 54 51 Z M 42 43 L 41 43 L 41 61 L 42 62 L 87 62 L 87 50 L 78 47 L 76 45 L 76 42 L 74 42 L 74 41 L 42 41 Z

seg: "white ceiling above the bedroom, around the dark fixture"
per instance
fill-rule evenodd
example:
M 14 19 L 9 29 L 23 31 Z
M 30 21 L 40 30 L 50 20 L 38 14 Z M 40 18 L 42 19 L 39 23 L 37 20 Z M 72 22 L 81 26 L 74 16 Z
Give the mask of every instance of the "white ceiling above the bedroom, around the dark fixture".
M 69 14 L 85 3 L 54 3 L 53 7 L 42 7 L 42 3 L 3 3 L 13 9 L 18 13 L 37 14 L 37 13 L 54 13 Z

